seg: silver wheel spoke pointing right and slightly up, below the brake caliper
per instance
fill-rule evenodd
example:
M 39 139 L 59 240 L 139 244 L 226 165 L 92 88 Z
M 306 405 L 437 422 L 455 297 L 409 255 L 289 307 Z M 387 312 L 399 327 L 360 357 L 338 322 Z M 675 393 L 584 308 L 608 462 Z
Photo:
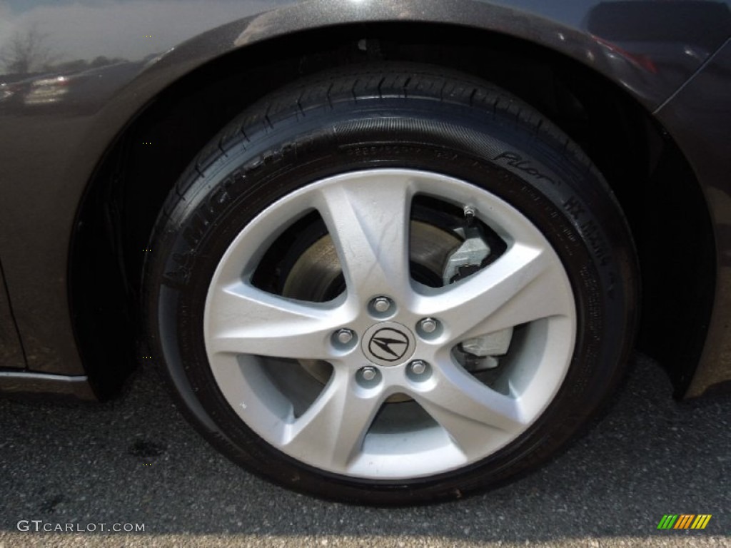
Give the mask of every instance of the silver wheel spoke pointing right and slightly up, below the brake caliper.
M 545 249 L 515 245 L 470 278 L 420 297 L 419 307 L 424 315 L 447 324 L 452 341 L 568 314 L 570 290 L 556 259 L 548 254 Z

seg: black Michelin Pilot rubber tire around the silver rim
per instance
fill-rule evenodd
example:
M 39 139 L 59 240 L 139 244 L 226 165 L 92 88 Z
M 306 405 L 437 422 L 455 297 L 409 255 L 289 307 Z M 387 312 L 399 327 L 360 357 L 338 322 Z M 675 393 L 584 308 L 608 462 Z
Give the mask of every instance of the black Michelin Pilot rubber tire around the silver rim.
M 309 183 L 376 168 L 448 175 L 512 205 L 548 240 L 575 298 L 567 373 L 537 419 L 477 462 L 413 478 L 333 473 L 269 444 L 221 392 L 203 330 L 216 267 L 252 219 Z M 295 228 L 298 235 L 274 247 L 306 248 L 308 229 Z M 149 247 L 149 340 L 186 415 L 235 463 L 284 487 L 338 501 L 401 505 L 460 498 L 544 463 L 616 388 L 635 330 L 632 238 L 602 175 L 533 108 L 489 83 L 431 66 L 354 66 L 308 77 L 255 104 L 180 178 Z M 257 283 L 281 291 L 291 256 L 270 248 L 256 253 L 270 262 L 270 278 Z M 258 267 L 255 275 L 261 278 Z

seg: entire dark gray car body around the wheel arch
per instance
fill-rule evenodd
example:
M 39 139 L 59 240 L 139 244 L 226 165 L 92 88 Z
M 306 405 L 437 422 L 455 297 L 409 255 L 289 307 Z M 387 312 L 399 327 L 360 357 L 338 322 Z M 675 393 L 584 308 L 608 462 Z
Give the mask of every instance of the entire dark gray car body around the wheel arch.
M 246 52 L 291 57 L 299 37 L 302 47 L 313 33 L 344 29 L 354 39 L 358 33 L 366 39 L 384 25 L 464 29 L 476 36 L 484 33 L 517 40 L 595 72 L 654 120 L 691 168 L 693 184 L 703 197 L 701 216 L 707 216 L 712 227 L 708 234 L 697 236 L 713 248 L 706 292 L 698 297 L 700 311 L 697 316 L 683 313 L 673 320 L 681 325 L 670 327 L 674 340 L 667 340 L 670 351 L 666 354 L 680 356 L 683 362 L 669 363 L 667 368 L 678 396 L 723 387 L 731 380 L 731 3 L 666 2 L 675 5 L 676 13 L 655 19 L 653 14 L 659 12 L 652 4 L 656 3 L 0 3 L 0 48 L 5 46 L 6 54 L 13 40 L 34 32 L 39 55 L 47 61 L 87 61 L 83 70 L 73 70 L 69 64 L 67 72 L 37 70 L 18 75 L 6 70 L 0 74 L 4 84 L 0 88 L 0 392 L 94 398 L 105 392 L 95 386 L 95 376 L 107 375 L 110 368 L 124 369 L 111 355 L 116 353 L 113 348 L 107 349 L 109 359 L 103 348 L 85 350 L 96 335 L 91 328 L 82 332 L 79 326 L 104 324 L 109 311 L 95 318 L 93 307 L 78 304 L 83 289 L 78 289 L 74 278 L 94 279 L 93 273 L 79 273 L 95 266 L 91 259 L 80 265 L 78 254 L 88 253 L 89 248 L 75 240 L 88 215 L 82 211 L 84 199 L 102 188 L 99 181 L 105 178 L 105 161 L 118 152 L 115 147 L 137 119 L 171 89 L 179 91 L 189 75 L 200 74 L 221 59 L 240 56 L 246 61 L 251 59 Z M 687 19 L 688 7 L 694 13 L 708 8 L 710 15 Z M 673 34 L 678 28 L 686 30 Z M 100 56 L 124 61 L 105 65 L 102 60 L 98 68 L 89 68 L 88 61 Z M 63 64 L 56 61 L 56 66 Z M 247 66 L 240 70 L 246 72 Z M 61 91 L 64 86 L 68 91 Z M 104 183 L 105 188 L 114 184 L 113 180 Z M 667 237 L 673 238 L 673 230 L 668 230 Z M 100 275 L 103 272 L 99 270 Z M 678 340 L 683 333 L 688 340 Z M 104 336 L 110 337 L 109 333 Z M 120 333 L 119 339 L 134 347 L 134 340 L 126 335 Z M 144 355 L 143 347 L 134 348 Z M 113 384 L 118 383 L 124 374 L 113 377 Z

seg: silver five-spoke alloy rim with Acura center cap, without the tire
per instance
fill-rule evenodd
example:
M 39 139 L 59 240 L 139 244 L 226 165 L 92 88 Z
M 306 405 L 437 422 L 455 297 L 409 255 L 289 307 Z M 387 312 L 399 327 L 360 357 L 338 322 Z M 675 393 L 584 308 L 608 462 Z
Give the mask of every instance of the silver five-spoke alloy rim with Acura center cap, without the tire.
M 450 285 L 417 283 L 409 270 L 409 227 L 418 195 L 474 208 L 507 243 L 506 251 Z M 254 286 L 251 277 L 268 248 L 312 211 L 332 237 L 345 292 L 308 302 Z M 387 317 L 369 308 L 379 296 L 393 300 Z M 420 335 L 417 326 L 425 318 L 439 321 L 439 330 Z M 496 384 L 481 381 L 455 358 L 461 341 L 519 326 Z M 355 335 L 348 343 L 337 338 L 343 329 Z M 401 340 L 401 346 L 381 341 L 395 359 L 383 359 L 382 352 L 371 361 L 367 349 L 376 349 L 374 337 L 386 330 L 396 332 L 389 340 Z M 569 279 L 534 224 L 488 191 L 417 170 L 344 173 L 274 202 L 221 258 L 204 316 L 213 376 L 240 419 L 289 457 L 366 479 L 452 471 L 510 443 L 558 392 L 575 333 Z M 414 359 L 428 364 L 425 373 L 409 368 Z M 280 384 L 298 360 L 327 362 L 332 369 L 300 411 Z M 364 381 L 364 367 L 375 368 L 376 376 Z M 394 395 L 409 401 L 388 403 Z M 394 413 L 387 406 L 412 408 Z

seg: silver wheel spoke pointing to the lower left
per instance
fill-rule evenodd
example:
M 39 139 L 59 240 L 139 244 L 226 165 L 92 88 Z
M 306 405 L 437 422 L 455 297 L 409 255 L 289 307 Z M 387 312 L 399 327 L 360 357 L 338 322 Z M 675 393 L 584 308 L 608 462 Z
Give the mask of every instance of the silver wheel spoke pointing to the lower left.
M 352 389 L 352 376 L 336 371 L 310 408 L 289 428 L 287 451 L 307 454 L 325 467 L 347 468 L 363 446 L 382 398 Z

